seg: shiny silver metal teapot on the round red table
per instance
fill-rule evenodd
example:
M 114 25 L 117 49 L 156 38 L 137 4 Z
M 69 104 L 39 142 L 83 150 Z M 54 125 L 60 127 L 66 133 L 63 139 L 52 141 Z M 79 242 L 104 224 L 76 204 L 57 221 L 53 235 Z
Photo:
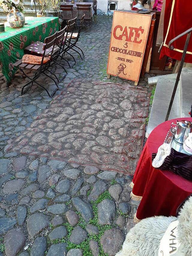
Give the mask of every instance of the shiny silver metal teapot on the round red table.
M 176 127 L 173 128 L 173 126 Z M 188 134 L 192 132 L 192 124 L 187 120 L 177 121 L 177 124 L 171 124 L 171 132 L 175 134 L 175 140 L 182 144 L 189 136 Z

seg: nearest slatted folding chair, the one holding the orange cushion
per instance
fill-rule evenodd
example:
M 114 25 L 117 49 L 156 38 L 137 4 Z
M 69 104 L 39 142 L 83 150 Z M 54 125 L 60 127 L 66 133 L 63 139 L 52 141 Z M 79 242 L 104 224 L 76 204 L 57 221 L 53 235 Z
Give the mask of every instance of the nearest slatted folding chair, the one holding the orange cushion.
M 55 94 L 55 92 L 58 90 L 58 85 L 55 81 L 55 79 L 53 79 L 51 76 L 49 76 L 46 72 L 50 72 L 51 74 L 53 74 L 51 71 L 49 71 L 49 67 L 50 67 L 50 64 L 51 64 L 51 61 L 52 61 L 52 56 L 53 56 L 53 52 L 55 51 L 55 48 L 58 50 L 58 46 L 55 45 L 55 40 L 57 38 L 57 32 L 50 36 L 49 39 L 47 39 L 47 42 L 46 44 L 43 46 L 43 50 L 44 50 L 44 53 L 43 53 L 43 56 L 42 56 L 42 59 L 41 59 L 41 64 L 40 65 L 36 65 L 36 64 L 27 64 L 27 63 L 22 63 L 22 59 L 18 60 L 17 62 L 15 62 L 13 64 L 14 67 L 18 68 L 23 74 L 25 77 L 27 77 L 30 81 L 28 83 L 26 83 L 23 87 L 22 87 L 22 90 L 21 90 L 21 95 L 23 95 L 23 90 L 26 86 L 28 86 L 29 84 L 33 85 L 33 83 L 37 84 L 38 86 L 42 87 L 43 89 L 46 90 L 47 94 L 49 95 L 50 98 L 52 98 L 52 96 Z M 50 56 L 50 60 L 44 64 L 44 59 L 45 57 L 47 56 Z M 35 73 L 34 77 L 29 77 L 25 71 L 32 71 Z M 41 74 L 44 74 L 46 75 L 47 77 L 49 77 L 50 79 L 52 79 L 56 85 L 56 89 L 55 91 L 52 93 L 52 95 L 50 95 L 50 93 L 48 92 L 48 90 L 43 86 L 41 85 L 39 82 L 37 82 L 36 80 L 38 79 L 38 77 L 40 77 Z M 55 76 L 55 74 L 54 74 Z M 56 77 L 56 76 L 55 76 Z

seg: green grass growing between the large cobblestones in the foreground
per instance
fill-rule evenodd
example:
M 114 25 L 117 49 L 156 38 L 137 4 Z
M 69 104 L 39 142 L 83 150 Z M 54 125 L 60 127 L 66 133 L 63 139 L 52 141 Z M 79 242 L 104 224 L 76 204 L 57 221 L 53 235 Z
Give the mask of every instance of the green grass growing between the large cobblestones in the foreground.
M 104 199 L 112 199 L 111 196 L 110 196 L 109 191 L 104 191 L 98 197 L 98 199 L 96 201 L 91 201 L 91 206 L 92 206 L 92 209 L 93 209 L 93 218 L 89 221 L 89 223 L 87 223 L 82 218 L 80 212 L 76 212 L 76 214 L 79 215 L 79 222 L 78 222 L 77 225 L 79 225 L 83 229 L 85 229 L 88 224 L 95 225 L 95 226 L 98 227 L 98 230 L 99 230 L 99 234 L 98 235 L 89 235 L 88 234 L 88 236 L 85 239 L 85 241 L 83 241 L 79 245 L 73 244 L 73 243 L 70 242 L 69 238 L 70 238 L 71 232 L 73 231 L 74 227 L 72 227 L 68 222 L 66 222 L 66 223 L 63 224 L 63 226 L 65 226 L 66 229 L 67 229 L 67 232 L 68 232 L 67 236 L 63 237 L 62 239 L 55 239 L 53 241 L 50 241 L 48 239 L 48 241 L 47 241 L 48 245 L 57 244 L 57 243 L 67 243 L 67 251 L 69 251 L 70 249 L 82 249 L 83 256 L 92 256 L 91 250 L 89 248 L 89 241 L 90 240 L 95 240 L 99 244 L 99 255 L 100 256 L 108 256 L 108 254 L 103 251 L 102 245 L 100 243 L 100 239 L 101 239 L 101 236 L 105 233 L 105 231 L 108 230 L 108 229 L 111 229 L 112 226 L 111 225 L 100 225 L 98 223 L 98 208 L 97 208 L 97 205 L 98 205 L 98 203 L 101 203 L 101 201 L 103 201 Z M 123 213 L 121 215 L 123 215 Z M 52 229 L 53 225 L 50 223 L 49 227 Z M 48 253 L 48 251 L 45 252 L 45 255 L 47 253 Z

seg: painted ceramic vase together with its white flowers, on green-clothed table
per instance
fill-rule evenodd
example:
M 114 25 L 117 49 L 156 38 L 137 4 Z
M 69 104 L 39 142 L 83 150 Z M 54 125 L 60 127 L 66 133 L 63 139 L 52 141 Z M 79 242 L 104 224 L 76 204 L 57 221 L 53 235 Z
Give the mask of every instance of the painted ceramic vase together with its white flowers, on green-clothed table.
M 22 13 L 24 6 L 22 0 L 0 0 L 0 6 L 4 12 L 8 12 L 7 21 L 12 28 L 21 28 L 25 24 Z

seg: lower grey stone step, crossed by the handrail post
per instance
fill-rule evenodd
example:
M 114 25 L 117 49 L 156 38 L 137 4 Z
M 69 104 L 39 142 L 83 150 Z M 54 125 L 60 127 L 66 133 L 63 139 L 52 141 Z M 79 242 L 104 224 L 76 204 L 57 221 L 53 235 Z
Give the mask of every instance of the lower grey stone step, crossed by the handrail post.
M 173 92 L 177 74 L 164 75 L 158 79 L 151 113 L 149 116 L 149 122 L 146 131 L 146 137 L 152 130 L 159 124 L 165 121 L 170 98 Z M 170 112 L 169 119 L 178 118 L 179 116 L 179 86 L 176 91 L 176 95 L 173 101 L 173 106 Z

